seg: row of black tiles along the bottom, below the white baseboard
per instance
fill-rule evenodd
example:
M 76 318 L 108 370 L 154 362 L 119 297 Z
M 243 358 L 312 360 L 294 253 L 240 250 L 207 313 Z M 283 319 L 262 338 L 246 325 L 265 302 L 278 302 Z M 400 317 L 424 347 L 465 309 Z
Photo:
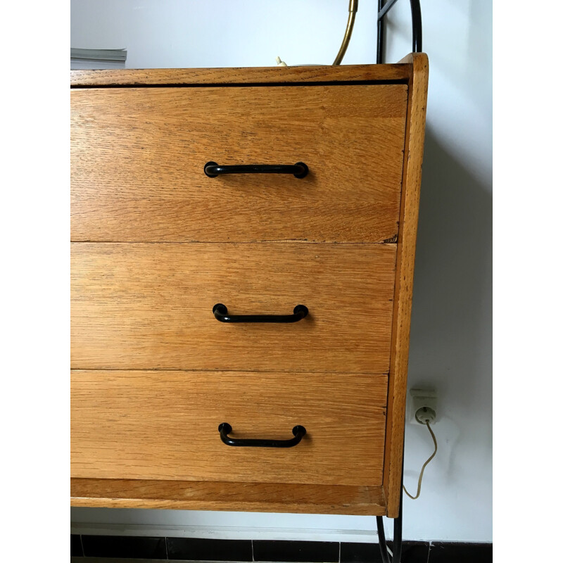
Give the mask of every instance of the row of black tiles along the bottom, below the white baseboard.
M 381 563 L 377 543 L 70 536 L 72 563 Z M 401 563 L 489 563 L 492 543 L 404 541 Z

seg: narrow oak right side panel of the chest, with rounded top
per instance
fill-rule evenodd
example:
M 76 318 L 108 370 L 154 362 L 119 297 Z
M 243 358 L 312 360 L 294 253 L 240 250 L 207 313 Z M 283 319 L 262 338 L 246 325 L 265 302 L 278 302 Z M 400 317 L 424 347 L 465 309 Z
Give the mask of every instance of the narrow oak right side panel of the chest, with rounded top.
M 402 62 L 412 64 L 409 84 L 409 108 L 405 137 L 405 167 L 400 205 L 400 227 L 397 244 L 395 301 L 393 305 L 393 334 L 391 337 L 391 368 L 389 371 L 387 430 L 385 442 L 384 491 L 387 515 L 399 513 L 403 441 L 405 433 L 405 402 L 410 339 L 412 282 L 415 274 L 424 126 L 428 96 L 428 57 L 412 53 Z

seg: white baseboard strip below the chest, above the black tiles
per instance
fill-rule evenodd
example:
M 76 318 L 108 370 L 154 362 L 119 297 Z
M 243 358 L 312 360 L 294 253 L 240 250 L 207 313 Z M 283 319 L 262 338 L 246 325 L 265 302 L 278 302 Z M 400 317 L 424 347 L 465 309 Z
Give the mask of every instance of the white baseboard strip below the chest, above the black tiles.
M 377 543 L 377 532 L 342 529 L 252 528 L 227 526 L 163 526 L 158 524 L 97 524 L 71 522 L 70 533 L 84 536 L 157 536 L 217 540 L 305 540 Z

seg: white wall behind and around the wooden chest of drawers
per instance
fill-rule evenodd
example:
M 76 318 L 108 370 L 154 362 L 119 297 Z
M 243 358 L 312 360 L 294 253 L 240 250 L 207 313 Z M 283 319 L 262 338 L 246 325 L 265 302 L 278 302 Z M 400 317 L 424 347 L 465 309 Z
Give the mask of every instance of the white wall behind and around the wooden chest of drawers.
M 374 63 L 376 6 L 360 0 L 343 63 Z M 439 393 L 438 455 L 422 495 L 405 497 L 405 539 L 492 540 L 492 6 L 422 0 L 430 61 L 426 149 L 412 310 L 409 385 Z M 410 7 L 388 26 L 388 58 L 410 52 Z M 71 44 L 128 49 L 128 68 L 268 66 L 333 61 L 348 0 L 72 0 Z M 405 485 L 431 453 L 407 426 Z M 80 523 L 214 528 L 220 537 L 374 540 L 373 517 L 73 509 Z M 391 522 L 390 522 L 391 523 Z M 241 526 L 248 529 L 241 531 Z M 91 529 L 91 527 L 90 527 Z M 125 528 L 122 529 L 122 531 Z M 242 536 L 241 536 L 242 534 Z M 388 528 L 391 536 L 391 526 Z

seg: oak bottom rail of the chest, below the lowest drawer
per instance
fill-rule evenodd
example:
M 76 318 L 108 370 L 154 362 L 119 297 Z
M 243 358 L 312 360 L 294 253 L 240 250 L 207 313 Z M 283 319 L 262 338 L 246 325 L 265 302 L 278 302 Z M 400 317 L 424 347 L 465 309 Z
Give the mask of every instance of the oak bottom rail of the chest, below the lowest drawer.
M 381 486 L 71 479 L 70 495 L 72 506 L 87 507 L 385 514 Z

